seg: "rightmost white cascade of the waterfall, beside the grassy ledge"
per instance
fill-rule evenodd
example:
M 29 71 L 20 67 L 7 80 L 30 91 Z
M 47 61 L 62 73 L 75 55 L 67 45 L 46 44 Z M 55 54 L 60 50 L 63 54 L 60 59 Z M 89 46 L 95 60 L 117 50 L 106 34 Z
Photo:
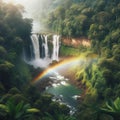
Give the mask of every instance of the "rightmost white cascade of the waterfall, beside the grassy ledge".
M 59 35 L 53 35 L 53 55 L 52 60 L 59 60 Z

